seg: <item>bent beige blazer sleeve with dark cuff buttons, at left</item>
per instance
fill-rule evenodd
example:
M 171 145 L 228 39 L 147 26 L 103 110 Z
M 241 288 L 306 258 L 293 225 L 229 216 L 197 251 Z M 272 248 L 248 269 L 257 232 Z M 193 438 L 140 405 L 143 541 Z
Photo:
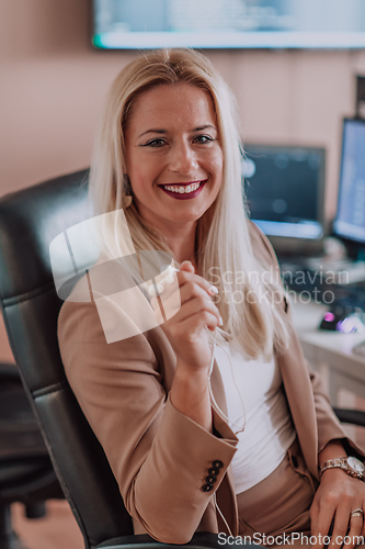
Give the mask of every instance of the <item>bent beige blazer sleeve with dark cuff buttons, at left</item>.
M 127 323 L 123 315 L 117 322 Z M 221 421 L 214 436 L 174 408 L 146 334 L 106 344 L 94 303 L 64 303 L 58 338 L 70 386 L 128 513 L 152 538 L 187 542 L 236 452 L 237 437 Z M 223 467 L 205 492 L 215 460 Z

